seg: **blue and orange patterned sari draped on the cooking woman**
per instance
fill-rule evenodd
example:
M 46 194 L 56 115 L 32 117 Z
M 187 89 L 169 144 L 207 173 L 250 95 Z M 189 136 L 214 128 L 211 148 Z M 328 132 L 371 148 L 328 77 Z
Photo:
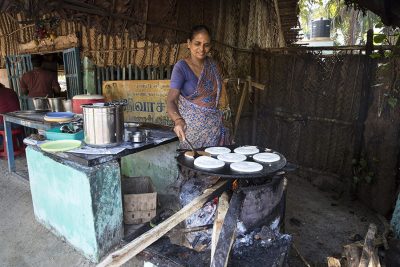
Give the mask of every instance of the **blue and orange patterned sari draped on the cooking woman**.
M 227 144 L 223 112 L 218 106 L 221 94 L 221 76 L 217 66 L 206 58 L 193 94 L 179 96 L 179 113 L 186 121 L 186 137 L 195 148 Z M 189 149 L 186 142 L 180 148 Z

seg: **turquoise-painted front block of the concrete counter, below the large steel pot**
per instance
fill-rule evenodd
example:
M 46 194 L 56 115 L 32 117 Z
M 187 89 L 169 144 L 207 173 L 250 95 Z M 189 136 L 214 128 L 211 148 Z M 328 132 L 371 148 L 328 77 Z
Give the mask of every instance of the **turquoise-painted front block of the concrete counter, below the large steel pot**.
M 123 237 L 118 162 L 72 166 L 31 146 L 26 157 L 36 219 L 97 262 Z

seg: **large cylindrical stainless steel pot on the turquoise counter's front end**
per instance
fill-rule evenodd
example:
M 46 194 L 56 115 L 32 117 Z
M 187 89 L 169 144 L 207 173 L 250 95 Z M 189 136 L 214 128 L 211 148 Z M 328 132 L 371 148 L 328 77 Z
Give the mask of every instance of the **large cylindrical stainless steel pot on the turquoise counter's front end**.
M 124 135 L 123 107 L 83 105 L 85 143 L 94 147 L 110 147 L 122 143 Z

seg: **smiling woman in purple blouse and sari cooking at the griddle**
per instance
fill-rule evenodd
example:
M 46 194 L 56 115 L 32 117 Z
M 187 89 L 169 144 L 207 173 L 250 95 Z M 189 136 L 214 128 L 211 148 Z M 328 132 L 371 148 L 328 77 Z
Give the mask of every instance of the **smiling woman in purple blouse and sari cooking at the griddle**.
M 211 35 L 204 25 L 192 28 L 187 45 L 190 57 L 179 60 L 172 71 L 167 98 L 168 115 L 181 148 L 227 144 L 223 112 L 218 109 L 222 81 L 217 65 L 207 55 Z

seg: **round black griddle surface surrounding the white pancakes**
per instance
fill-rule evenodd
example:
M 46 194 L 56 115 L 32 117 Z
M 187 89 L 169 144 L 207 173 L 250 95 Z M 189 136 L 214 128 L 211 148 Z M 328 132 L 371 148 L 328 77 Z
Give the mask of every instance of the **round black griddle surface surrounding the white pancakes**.
M 237 148 L 238 146 L 226 146 L 229 147 L 232 151 Z M 264 148 L 260 148 L 260 153 L 264 152 Z M 198 151 L 204 151 L 206 147 L 204 148 L 199 148 Z M 180 166 L 183 168 L 190 169 L 192 171 L 199 172 L 201 174 L 207 174 L 207 175 L 214 175 L 214 176 L 221 176 L 225 178 L 234 178 L 234 179 L 249 179 L 249 178 L 262 178 L 262 177 L 269 177 L 274 175 L 277 171 L 281 170 L 283 167 L 286 165 L 286 158 L 276 152 L 276 151 L 268 151 L 271 153 L 276 153 L 280 156 L 280 160 L 272 163 L 260 163 L 263 165 L 263 169 L 258 172 L 250 172 L 250 173 L 245 173 L 245 172 L 238 172 L 231 170 L 230 168 L 230 163 L 225 163 L 225 166 L 217 169 L 205 169 L 205 168 L 199 168 L 194 165 L 194 159 L 189 158 L 185 156 L 186 151 L 181 151 L 179 152 L 177 156 L 177 162 Z M 247 161 L 254 161 L 252 156 L 247 156 Z

